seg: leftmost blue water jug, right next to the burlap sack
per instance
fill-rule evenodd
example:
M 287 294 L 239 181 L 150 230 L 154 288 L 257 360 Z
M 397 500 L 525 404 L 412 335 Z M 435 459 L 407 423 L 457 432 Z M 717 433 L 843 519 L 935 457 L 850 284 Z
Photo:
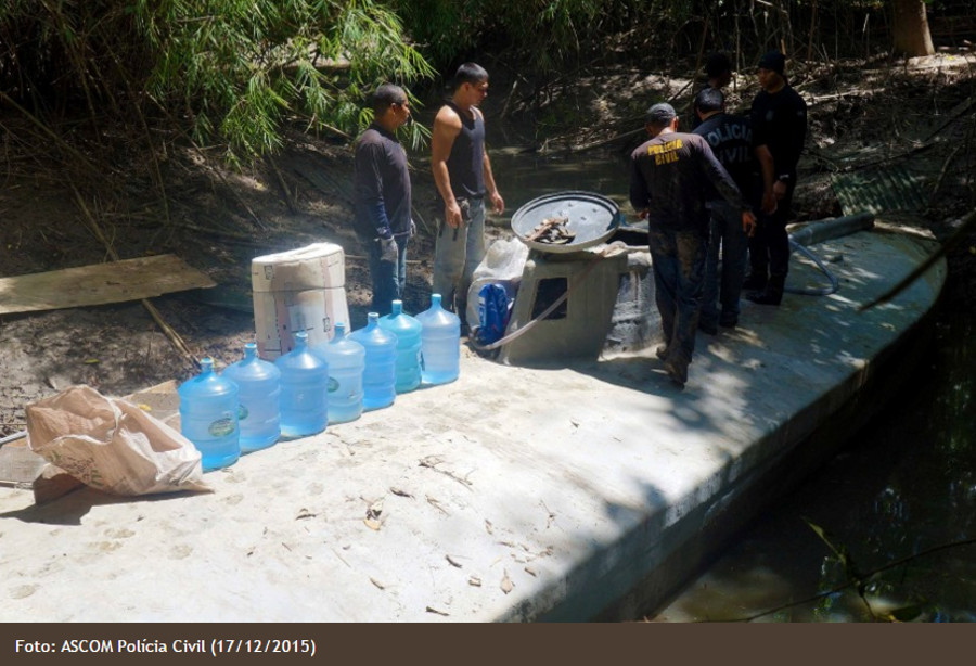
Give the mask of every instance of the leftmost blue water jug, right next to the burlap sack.
M 214 359 L 200 361 L 200 374 L 177 389 L 180 432 L 201 453 L 204 472 L 234 464 L 241 457 L 237 385 L 214 372 Z

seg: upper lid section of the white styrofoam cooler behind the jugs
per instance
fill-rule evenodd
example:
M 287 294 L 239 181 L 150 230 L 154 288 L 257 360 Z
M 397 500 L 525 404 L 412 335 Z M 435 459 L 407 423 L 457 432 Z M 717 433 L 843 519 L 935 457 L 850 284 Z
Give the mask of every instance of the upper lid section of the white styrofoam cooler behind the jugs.
M 251 261 L 251 284 L 255 292 L 344 287 L 345 272 L 342 245 L 312 243 L 255 257 Z

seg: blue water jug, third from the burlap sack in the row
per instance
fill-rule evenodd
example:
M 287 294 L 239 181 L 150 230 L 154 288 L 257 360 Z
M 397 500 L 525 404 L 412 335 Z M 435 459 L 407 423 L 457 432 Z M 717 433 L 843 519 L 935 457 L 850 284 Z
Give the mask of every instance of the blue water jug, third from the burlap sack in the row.
M 329 424 L 329 366 L 308 348 L 308 333 L 295 334 L 295 347 L 274 359 L 281 370 L 281 434 L 306 437 Z

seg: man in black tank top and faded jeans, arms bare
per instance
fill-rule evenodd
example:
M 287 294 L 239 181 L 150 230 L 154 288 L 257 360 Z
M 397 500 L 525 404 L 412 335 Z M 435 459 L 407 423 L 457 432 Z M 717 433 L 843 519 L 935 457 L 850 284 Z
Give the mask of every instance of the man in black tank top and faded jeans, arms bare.
M 485 148 L 485 116 L 477 107 L 487 94 L 488 73 L 474 63 L 461 65 L 431 137 L 431 169 L 444 204 L 434 251 L 434 293 L 462 320 L 472 273 L 485 258 L 485 197 L 496 215 L 505 209 Z

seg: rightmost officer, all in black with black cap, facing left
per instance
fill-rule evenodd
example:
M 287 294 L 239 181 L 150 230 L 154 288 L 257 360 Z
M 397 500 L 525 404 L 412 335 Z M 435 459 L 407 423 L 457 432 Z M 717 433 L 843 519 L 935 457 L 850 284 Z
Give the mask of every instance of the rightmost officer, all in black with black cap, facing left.
M 796 165 L 807 138 L 807 103 L 786 80 L 785 66 L 786 59 L 779 51 L 759 60 L 762 90 L 753 100 L 750 112 L 753 142 L 760 151 L 769 151 L 774 165 L 774 180 L 766 183 L 766 191 L 775 197 L 775 213 L 759 217 L 759 228 L 749 239 L 749 274 L 743 284 L 750 291 L 746 298 L 760 305 L 780 305 L 783 299 L 789 270 L 786 222 L 796 188 Z M 770 209 L 772 203 L 763 202 L 763 209 Z

